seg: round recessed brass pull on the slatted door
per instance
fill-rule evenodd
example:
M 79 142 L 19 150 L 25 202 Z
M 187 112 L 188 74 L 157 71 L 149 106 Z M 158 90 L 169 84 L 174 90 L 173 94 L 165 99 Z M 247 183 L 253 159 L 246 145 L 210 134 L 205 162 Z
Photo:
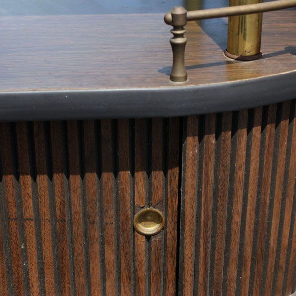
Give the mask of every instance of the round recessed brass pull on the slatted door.
M 164 226 L 164 216 L 157 209 L 140 210 L 134 217 L 135 230 L 142 235 L 155 235 Z

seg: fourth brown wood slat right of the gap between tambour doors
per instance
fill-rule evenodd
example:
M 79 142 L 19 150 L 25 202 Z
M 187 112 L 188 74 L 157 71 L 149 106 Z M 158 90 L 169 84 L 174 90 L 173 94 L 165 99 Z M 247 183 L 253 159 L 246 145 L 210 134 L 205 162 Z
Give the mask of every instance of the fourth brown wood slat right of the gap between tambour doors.
M 247 142 L 247 121 L 248 111 L 239 111 L 238 118 L 238 131 L 236 143 L 236 157 L 235 159 L 235 179 L 233 190 L 233 206 L 232 206 L 232 222 L 231 222 L 231 239 L 229 249 L 229 266 L 228 266 L 228 279 L 227 279 L 227 295 L 235 295 L 235 284 L 237 275 L 237 261 L 239 251 L 239 235 L 240 223 L 242 214 L 243 202 L 243 184 L 246 160 L 246 142 Z

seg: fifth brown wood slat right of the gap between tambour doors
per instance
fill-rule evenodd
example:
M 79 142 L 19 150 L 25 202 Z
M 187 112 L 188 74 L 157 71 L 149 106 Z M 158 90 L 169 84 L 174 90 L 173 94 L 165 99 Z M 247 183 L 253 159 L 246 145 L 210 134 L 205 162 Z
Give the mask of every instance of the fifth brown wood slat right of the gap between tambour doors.
M 252 128 L 252 146 L 250 160 L 250 175 L 248 188 L 248 205 L 246 210 L 246 228 L 241 281 L 241 295 L 248 295 L 250 269 L 252 261 L 252 247 L 255 223 L 256 194 L 259 173 L 259 153 L 261 141 L 262 108 L 254 110 L 253 128 Z

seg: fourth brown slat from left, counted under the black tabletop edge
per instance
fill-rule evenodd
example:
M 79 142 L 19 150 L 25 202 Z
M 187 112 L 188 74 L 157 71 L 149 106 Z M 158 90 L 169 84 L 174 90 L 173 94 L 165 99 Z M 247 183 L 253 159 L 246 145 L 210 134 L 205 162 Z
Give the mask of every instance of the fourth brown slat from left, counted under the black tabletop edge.
M 60 286 L 61 295 L 70 295 L 70 273 L 72 273 L 69 263 L 69 237 L 67 234 L 67 224 L 70 221 L 66 215 L 66 198 L 67 191 L 65 190 L 66 174 L 64 163 L 66 161 L 63 137 L 64 122 L 51 122 L 51 150 L 52 150 L 52 174 L 54 184 L 54 195 L 56 204 L 56 219 L 57 219 L 57 236 L 58 236 L 58 252 L 60 265 Z M 67 184 L 67 183 L 66 183 Z M 67 221 L 68 220 L 68 221 Z M 70 251 L 71 252 L 71 251 Z

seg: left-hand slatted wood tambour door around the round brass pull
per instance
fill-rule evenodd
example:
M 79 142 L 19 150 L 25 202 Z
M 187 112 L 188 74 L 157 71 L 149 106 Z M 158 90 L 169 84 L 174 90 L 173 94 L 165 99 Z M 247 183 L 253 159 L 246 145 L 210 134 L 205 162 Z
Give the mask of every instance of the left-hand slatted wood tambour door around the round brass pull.
M 0 295 L 172 295 L 179 119 L 0 124 Z M 155 207 L 165 229 L 134 232 Z

